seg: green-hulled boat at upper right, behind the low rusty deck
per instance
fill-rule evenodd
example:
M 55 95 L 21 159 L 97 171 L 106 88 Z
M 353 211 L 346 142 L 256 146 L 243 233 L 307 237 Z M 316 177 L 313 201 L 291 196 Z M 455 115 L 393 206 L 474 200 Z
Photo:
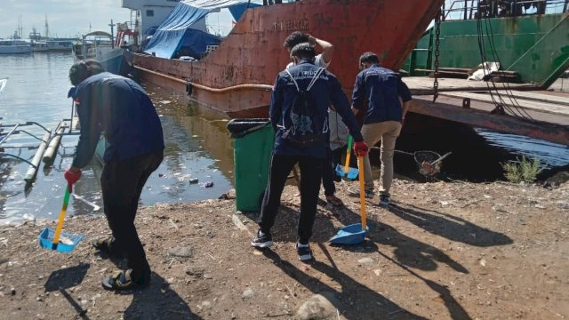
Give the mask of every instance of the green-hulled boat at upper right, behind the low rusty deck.
M 445 1 L 437 28 L 421 36 L 403 69 L 425 76 L 471 76 L 486 61 L 497 63 L 500 82 L 547 89 L 569 68 L 569 0 Z M 437 52 L 437 54 L 436 54 Z

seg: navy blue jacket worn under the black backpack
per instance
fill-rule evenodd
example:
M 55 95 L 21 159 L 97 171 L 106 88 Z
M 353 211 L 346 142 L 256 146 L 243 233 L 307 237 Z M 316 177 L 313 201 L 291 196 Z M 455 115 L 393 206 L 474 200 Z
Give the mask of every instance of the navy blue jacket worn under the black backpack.
M 318 67 L 309 60 L 303 60 L 297 66 L 289 68 L 288 71 L 294 76 L 301 90 L 305 90 L 312 76 Z M 340 114 L 342 121 L 348 126 L 350 134 L 355 141 L 363 141 L 364 138 L 359 131 L 359 125 L 354 113 L 349 108 L 349 101 L 346 94 L 341 90 L 341 84 L 331 72 L 324 70 L 317 82 L 310 89 L 311 96 L 315 98 L 315 106 L 318 116 L 324 116 L 328 121 L 328 107 L 333 105 L 336 112 Z M 283 156 L 313 156 L 325 158 L 329 148 L 330 132 L 326 132 L 326 142 L 322 146 L 314 148 L 297 148 L 292 146 L 287 140 L 282 139 L 284 128 L 283 119 L 289 119 L 294 98 L 298 95 L 293 79 L 285 71 L 276 76 L 275 85 L 270 100 L 270 121 L 276 132 L 275 148 L 276 155 Z

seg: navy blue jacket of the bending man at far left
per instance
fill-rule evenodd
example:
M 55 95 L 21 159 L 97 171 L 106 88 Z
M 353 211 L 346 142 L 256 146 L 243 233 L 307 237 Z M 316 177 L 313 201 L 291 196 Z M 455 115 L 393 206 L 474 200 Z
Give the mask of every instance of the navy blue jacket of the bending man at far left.
M 78 84 L 73 96 L 81 136 L 72 166 L 83 168 L 91 161 L 101 131 L 107 140 L 105 162 L 164 149 L 156 108 L 131 79 L 103 72 Z

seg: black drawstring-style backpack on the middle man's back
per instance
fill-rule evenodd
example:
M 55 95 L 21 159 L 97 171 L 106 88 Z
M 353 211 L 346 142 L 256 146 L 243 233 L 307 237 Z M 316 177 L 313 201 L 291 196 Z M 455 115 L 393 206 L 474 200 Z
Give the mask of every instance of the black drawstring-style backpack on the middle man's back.
M 317 82 L 324 72 L 324 68 L 318 68 L 315 76 L 310 81 L 306 90 L 301 90 L 299 84 L 294 80 L 293 75 L 284 70 L 293 80 L 298 94 L 293 100 L 293 108 L 290 113 L 291 125 L 284 126 L 283 139 L 297 148 L 310 148 L 321 146 L 326 142 L 326 132 L 328 132 L 328 113 L 319 115 L 314 97 L 310 89 Z M 283 119 L 283 124 L 285 123 Z

